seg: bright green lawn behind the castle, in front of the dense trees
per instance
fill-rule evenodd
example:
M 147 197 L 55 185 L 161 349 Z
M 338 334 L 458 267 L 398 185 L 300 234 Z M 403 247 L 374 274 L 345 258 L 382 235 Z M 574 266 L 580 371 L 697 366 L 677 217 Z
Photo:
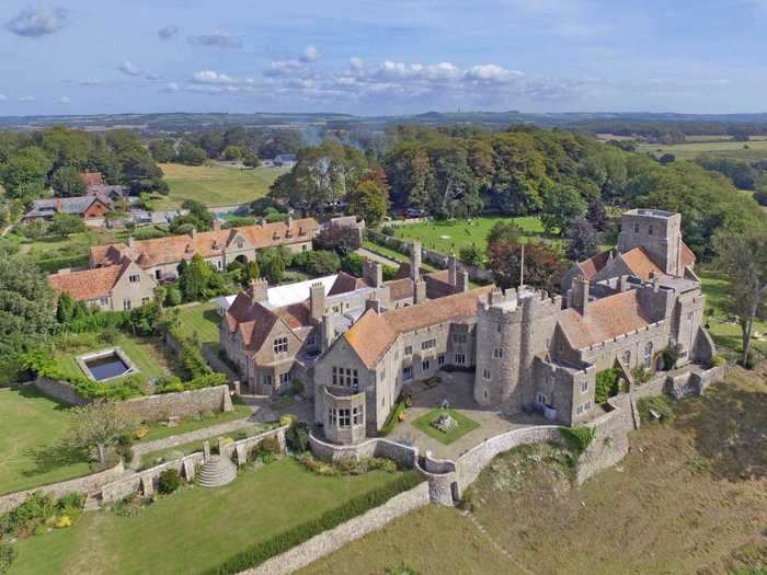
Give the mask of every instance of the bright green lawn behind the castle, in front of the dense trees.
M 543 226 L 538 218 L 474 218 L 471 220 L 427 221 L 400 226 L 394 235 L 408 241 L 420 240 L 424 248 L 442 253 L 458 251 L 465 245 L 476 244 L 484 251 L 488 232 L 497 221 L 514 221 L 523 231 L 522 239 L 541 239 Z

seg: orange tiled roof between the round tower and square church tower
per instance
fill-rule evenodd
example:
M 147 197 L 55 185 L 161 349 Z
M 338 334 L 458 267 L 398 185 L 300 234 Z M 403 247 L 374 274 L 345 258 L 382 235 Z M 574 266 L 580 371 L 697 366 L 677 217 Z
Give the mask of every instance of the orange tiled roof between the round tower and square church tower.
M 613 340 L 650 323 L 650 315 L 642 308 L 636 289 L 589 302 L 585 317 L 569 308 L 559 319 L 559 325 L 574 349 Z

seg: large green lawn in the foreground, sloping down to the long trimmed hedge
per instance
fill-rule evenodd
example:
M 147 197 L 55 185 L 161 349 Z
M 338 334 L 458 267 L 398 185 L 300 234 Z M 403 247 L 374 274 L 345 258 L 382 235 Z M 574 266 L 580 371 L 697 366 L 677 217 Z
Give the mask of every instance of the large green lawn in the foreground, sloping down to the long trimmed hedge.
M 397 476 L 320 476 L 283 458 L 225 487 L 162 497 L 133 517 L 89 513 L 72 528 L 22 540 L 11 573 L 197 573 Z

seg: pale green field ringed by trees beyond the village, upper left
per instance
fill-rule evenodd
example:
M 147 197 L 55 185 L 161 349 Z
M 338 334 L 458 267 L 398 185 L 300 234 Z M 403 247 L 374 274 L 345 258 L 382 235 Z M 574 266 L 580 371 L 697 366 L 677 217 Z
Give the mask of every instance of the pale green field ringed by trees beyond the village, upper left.
M 207 206 L 244 204 L 265 196 L 268 186 L 286 172 L 278 168 L 237 170 L 215 164 L 160 164 L 171 188 L 168 196 L 157 196 L 157 209 L 178 208 L 184 199 L 196 199 Z

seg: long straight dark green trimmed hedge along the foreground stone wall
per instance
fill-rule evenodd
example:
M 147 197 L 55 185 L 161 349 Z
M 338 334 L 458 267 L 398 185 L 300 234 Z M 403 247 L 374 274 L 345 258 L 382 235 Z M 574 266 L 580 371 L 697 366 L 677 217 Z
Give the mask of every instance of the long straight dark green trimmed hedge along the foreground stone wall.
M 394 481 L 353 497 L 343 505 L 325 511 L 317 519 L 311 519 L 265 541 L 261 541 L 250 549 L 229 557 L 217 567 L 203 573 L 206 575 L 228 575 L 260 565 L 264 561 L 279 555 L 323 531 L 333 529 L 344 521 L 348 521 L 374 507 L 385 504 L 394 495 L 412 490 L 421 481 L 421 476 L 415 471 L 407 471 Z

